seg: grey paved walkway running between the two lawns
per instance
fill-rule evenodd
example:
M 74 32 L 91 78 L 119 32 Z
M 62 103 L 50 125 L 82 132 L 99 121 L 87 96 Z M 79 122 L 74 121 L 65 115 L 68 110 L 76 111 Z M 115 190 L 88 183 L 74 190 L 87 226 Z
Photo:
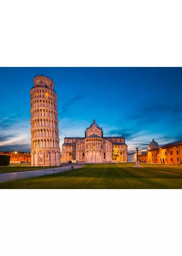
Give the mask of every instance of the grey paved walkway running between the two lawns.
M 24 178 L 31 178 L 36 176 L 43 176 L 48 174 L 59 173 L 59 172 L 65 172 L 68 170 L 71 170 L 71 166 L 73 166 L 73 169 L 78 169 L 84 164 L 77 163 L 76 165 L 68 165 L 65 167 L 56 167 L 56 168 L 50 168 L 50 169 L 41 169 L 41 170 L 32 170 L 32 171 L 26 171 L 26 172 L 15 172 L 15 173 L 0 173 L 0 182 L 2 181 L 9 181 L 9 180 L 17 180 L 17 179 L 24 179 Z

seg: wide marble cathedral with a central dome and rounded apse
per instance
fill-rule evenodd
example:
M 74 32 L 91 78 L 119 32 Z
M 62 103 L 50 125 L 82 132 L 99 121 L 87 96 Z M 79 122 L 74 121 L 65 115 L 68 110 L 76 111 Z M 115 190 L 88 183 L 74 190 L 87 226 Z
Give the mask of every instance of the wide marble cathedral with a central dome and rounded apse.
M 62 162 L 107 163 L 127 162 L 124 136 L 104 137 L 95 123 L 86 128 L 84 137 L 66 137 L 62 145 Z

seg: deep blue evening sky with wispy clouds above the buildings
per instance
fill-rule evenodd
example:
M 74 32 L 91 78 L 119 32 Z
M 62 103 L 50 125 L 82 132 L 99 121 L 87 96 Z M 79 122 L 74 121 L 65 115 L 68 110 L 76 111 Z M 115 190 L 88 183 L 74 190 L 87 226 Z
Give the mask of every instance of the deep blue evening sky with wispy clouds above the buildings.
M 130 152 L 182 140 L 182 68 L 0 68 L 4 151 L 31 149 L 29 91 L 42 73 L 55 83 L 60 144 L 94 118 L 104 136 L 124 134 Z

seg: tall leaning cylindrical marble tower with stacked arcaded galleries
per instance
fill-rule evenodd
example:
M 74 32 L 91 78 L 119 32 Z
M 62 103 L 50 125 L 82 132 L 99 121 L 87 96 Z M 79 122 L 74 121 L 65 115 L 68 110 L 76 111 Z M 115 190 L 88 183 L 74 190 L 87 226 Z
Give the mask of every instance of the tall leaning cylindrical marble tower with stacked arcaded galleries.
M 53 80 L 36 75 L 30 97 L 31 165 L 59 166 L 58 105 Z

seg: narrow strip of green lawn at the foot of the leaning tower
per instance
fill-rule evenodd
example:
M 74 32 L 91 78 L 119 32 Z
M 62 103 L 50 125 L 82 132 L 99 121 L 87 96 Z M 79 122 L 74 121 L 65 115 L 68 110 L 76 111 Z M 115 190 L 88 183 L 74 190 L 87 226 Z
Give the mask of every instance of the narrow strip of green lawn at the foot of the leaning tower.
M 40 170 L 40 169 L 48 169 L 48 168 L 54 168 L 59 166 L 0 166 L 1 173 L 9 173 L 9 172 L 21 172 L 21 171 L 31 171 L 31 170 Z

